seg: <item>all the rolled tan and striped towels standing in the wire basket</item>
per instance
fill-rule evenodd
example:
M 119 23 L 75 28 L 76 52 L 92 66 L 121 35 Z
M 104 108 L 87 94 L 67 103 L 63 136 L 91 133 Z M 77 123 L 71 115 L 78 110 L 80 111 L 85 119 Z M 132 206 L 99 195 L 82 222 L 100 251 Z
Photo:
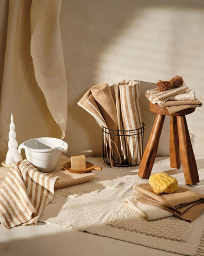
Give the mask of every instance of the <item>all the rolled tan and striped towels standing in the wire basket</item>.
M 111 87 L 107 83 L 95 85 L 78 102 L 100 126 L 109 129 L 103 139 L 111 166 L 123 159 L 131 165 L 140 162 L 141 141 L 135 136 L 135 130 L 142 127 L 139 85 L 130 80 Z

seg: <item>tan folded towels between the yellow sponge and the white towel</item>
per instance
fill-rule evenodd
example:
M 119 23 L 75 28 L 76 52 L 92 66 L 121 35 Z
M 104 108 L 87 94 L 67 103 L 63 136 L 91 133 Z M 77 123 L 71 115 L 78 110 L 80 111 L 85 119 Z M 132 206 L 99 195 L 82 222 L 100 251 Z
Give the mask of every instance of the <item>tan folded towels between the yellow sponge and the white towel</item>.
M 193 221 L 204 210 L 204 195 L 196 191 L 178 187 L 173 194 L 155 194 L 149 183 L 134 186 L 141 196 L 139 201 L 163 207 L 178 217 Z

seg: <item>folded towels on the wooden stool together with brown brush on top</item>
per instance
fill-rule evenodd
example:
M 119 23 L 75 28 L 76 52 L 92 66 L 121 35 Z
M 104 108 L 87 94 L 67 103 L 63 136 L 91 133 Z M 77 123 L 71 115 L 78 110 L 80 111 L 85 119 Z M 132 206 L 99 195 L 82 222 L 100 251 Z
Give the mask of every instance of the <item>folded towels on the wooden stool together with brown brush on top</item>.
M 202 106 L 195 92 L 184 85 L 181 76 L 175 76 L 170 81 L 158 81 L 157 88 L 147 90 L 145 95 L 151 103 L 166 107 L 169 114 Z

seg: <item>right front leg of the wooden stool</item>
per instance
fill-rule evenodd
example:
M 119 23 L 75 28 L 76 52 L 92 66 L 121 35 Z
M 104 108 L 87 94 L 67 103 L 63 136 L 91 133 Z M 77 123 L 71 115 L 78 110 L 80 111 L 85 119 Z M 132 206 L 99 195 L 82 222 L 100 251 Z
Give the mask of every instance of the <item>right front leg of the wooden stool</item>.
M 177 126 L 185 183 L 193 185 L 199 182 L 199 175 L 185 116 L 177 116 Z

